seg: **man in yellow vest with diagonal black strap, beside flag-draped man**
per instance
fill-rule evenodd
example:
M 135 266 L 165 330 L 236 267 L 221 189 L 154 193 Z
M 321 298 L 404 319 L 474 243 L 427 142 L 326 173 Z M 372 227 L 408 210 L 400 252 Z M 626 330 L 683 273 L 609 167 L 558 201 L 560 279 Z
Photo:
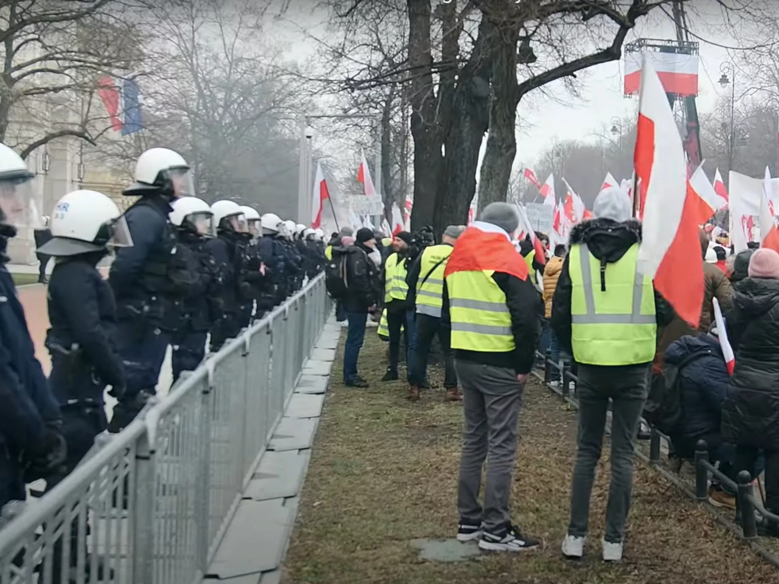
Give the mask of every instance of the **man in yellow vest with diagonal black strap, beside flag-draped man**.
M 430 245 L 408 271 L 408 287 L 416 290 L 417 342 L 414 367 L 409 374 L 408 399 L 419 399 L 419 390 L 425 385 L 428 356 L 433 337 L 438 335 L 444 360 L 444 389 L 446 400 L 460 401 L 457 375 L 454 372 L 452 352 L 449 350 L 449 329 L 441 327 L 443 303 L 443 272 L 457 237 L 463 233 L 462 225 L 449 225 L 441 236 L 440 245 Z

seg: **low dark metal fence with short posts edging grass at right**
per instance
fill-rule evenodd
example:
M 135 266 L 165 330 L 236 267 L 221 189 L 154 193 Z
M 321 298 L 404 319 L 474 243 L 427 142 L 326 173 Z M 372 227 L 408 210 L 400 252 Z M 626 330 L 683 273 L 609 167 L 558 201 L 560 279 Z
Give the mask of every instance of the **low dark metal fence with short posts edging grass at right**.
M 540 357 L 543 360 L 543 382 L 545 382 L 545 384 L 547 384 L 548 387 L 552 389 L 552 391 L 578 408 L 578 401 L 576 399 L 576 385 L 579 382 L 579 378 L 572 371 L 572 363 L 566 359 L 559 359 L 559 361 L 554 361 L 550 352 L 547 352 L 547 354 L 542 354 L 540 351 L 536 351 L 536 354 L 537 357 Z M 558 375 L 554 376 L 559 376 L 561 378 L 559 385 L 552 385 L 551 383 L 552 373 L 555 371 L 558 373 Z M 652 425 L 647 422 L 647 420 L 642 418 L 641 421 L 650 428 L 649 456 L 644 456 L 643 453 L 639 451 L 636 451 L 637 454 L 647 463 L 653 466 L 654 469 L 661 473 L 665 478 L 670 480 L 671 483 L 675 484 L 676 487 L 679 487 L 679 489 L 684 493 L 689 494 L 690 497 L 696 499 L 696 501 L 703 502 L 709 500 L 710 477 L 716 478 L 720 481 L 721 484 L 724 484 L 732 491 L 735 491 L 738 505 L 738 513 L 736 514 L 735 522 L 731 521 L 727 517 L 723 517 L 719 512 L 714 511 L 713 508 L 711 508 L 710 511 L 714 512 L 717 520 L 725 527 L 730 529 L 732 533 L 735 533 L 735 535 L 741 537 L 742 540 L 749 542 L 749 544 L 751 544 L 753 547 L 753 550 L 756 551 L 757 554 L 760 554 L 763 559 L 779 568 L 779 557 L 777 557 L 774 552 L 768 550 L 767 548 L 756 544 L 756 540 L 758 538 L 757 518 L 760 517 L 764 521 L 775 522 L 779 524 L 779 515 L 774 515 L 774 513 L 768 512 L 765 508 L 763 508 L 763 505 L 758 503 L 758 498 L 756 498 L 753 492 L 753 477 L 750 476 L 749 472 L 743 470 L 741 473 L 738 473 L 738 477 L 736 477 L 735 481 L 727 477 L 724 475 L 724 473 L 717 469 L 716 466 L 710 463 L 708 445 L 705 441 L 700 440 L 696 444 L 694 457 L 690 461 L 693 463 L 695 468 L 694 491 L 690 491 L 689 487 L 684 484 L 682 480 L 679 479 L 679 477 L 675 477 L 673 473 L 668 472 L 668 470 L 665 470 L 662 466 L 660 466 L 662 446 L 661 441 L 665 440 L 668 442 L 668 444 L 670 444 L 671 438 L 657 430 L 656 427 L 652 427 Z M 739 531 L 741 533 L 738 533 Z

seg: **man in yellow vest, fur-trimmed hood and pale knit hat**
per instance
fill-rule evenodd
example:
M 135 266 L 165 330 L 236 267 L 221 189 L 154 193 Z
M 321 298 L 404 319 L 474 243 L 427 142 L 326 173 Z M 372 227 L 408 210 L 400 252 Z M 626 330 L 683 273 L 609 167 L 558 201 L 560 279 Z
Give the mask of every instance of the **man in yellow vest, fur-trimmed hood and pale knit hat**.
M 562 543 L 562 553 L 569 558 L 583 555 L 609 399 L 612 477 L 601 544 L 605 561 L 622 558 L 636 433 L 649 391 L 657 325 L 669 320 L 652 280 L 638 271 L 641 223 L 631 215 L 630 199 L 620 188 L 597 195 L 594 219 L 571 230 L 570 251 L 552 299 L 552 329 L 562 347 L 572 352 L 579 379 L 579 448 L 571 519 Z

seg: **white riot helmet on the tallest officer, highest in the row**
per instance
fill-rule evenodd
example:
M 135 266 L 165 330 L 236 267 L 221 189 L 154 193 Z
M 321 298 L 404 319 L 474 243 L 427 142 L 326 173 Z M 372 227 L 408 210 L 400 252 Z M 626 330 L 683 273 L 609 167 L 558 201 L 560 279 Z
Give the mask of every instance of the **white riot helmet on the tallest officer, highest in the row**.
M 167 148 L 150 148 L 136 162 L 136 184 L 122 195 L 166 195 L 171 199 L 195 194 L 192 171 L 181 154 Z

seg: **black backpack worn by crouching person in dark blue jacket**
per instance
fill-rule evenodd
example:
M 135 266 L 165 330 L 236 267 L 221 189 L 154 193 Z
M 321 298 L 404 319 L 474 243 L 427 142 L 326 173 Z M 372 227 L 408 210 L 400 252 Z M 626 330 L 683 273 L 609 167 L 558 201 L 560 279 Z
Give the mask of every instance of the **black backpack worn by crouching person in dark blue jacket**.
M 682 431 L 682 390 L 679 387 L 679 370 L 701 357 L 714 354 L 711 349 L 695 351 L 676 364 L 664 365 L 659 373 L 655 373 L 649 389 L 647 402 L 643 406 L 643 418 L 652 427 L 657 428 L 667 436 L 679 434 Z

